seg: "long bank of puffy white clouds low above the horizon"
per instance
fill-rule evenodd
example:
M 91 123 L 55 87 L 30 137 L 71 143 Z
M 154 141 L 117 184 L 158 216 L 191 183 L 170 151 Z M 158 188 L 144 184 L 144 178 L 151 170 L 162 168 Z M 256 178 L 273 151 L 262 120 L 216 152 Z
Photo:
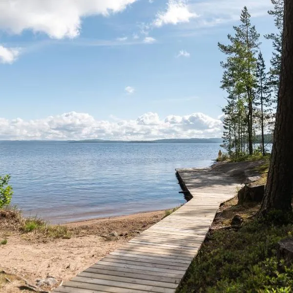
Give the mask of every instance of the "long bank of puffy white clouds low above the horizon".
M 161 119 L 148 112 L 135 120 L 96 120 L 87 113 L 69 112 L 39 120 L 0 118 L 0 139 L 8 140 L 153 140 L 221 137 L 222 122 L 203 113 Z

